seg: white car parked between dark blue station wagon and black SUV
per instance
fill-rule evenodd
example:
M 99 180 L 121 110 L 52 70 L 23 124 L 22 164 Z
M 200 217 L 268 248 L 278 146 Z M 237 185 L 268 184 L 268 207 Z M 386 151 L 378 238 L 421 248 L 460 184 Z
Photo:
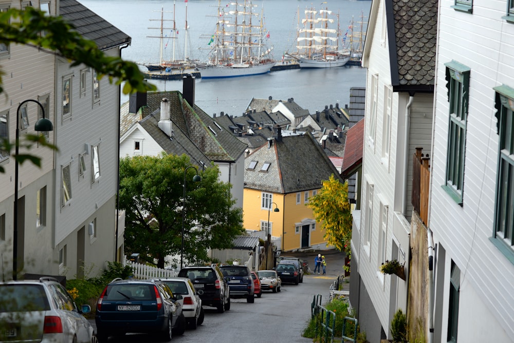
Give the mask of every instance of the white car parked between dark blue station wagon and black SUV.
M 204 308 L 201 307 L 201 299 L 194 288 L 193 282 L 186 277 L 174 277 L 161 279 L 168 284 L 173 294 L 180 294 L 181 300 L 177 300 L 182 305 L 182 313 L 186 317 L 190 328 L 196 329 L 204 322 Z

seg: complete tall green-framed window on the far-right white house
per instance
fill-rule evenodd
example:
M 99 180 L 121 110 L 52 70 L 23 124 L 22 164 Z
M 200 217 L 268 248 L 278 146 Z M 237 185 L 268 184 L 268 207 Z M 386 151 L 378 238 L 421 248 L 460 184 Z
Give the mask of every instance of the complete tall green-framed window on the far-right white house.
M 445 65 L 450 118 L 443 188 L 458 204 L 462 204 L 470 69 L 455 61 Z

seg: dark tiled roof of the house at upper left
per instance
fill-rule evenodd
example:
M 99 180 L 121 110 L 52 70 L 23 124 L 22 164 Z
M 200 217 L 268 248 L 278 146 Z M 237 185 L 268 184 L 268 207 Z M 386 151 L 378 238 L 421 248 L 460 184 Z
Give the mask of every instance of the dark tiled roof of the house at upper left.
M 131 43 L 131 37 L 76 0 L 61 0 L 59 14 L 83 37 L 95 41 L 100 50 Z

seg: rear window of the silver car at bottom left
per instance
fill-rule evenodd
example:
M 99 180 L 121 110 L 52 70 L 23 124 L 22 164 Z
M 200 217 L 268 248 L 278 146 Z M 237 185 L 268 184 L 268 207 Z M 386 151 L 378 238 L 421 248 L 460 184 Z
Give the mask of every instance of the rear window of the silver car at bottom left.
M 50 304 L 43 285 L 0 285 L 0 312 L 48 311 Z

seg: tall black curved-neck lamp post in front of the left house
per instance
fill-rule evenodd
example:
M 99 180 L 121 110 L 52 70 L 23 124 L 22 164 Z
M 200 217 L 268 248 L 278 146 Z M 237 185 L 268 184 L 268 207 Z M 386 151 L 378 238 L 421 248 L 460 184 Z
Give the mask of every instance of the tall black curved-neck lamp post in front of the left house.
M 18 269 L 18 153 L 20 147 L 20 110 L 22 105 L 26 102 L 35 102 L 41 107 L 41 113 L 43 114 L 43 118 L 36 121 L 34 125 L 34 130 L 36 131 L 53 131 L 53 124 L 50 120 L 45 118 L 45 108 L 43 105 L 37 100 L 24 100 L 20 103 L 18 108 L 16 109 L 16 144 L 14 148 L 14 219 L 13 219 L 13 235 L 12 235 L 12 279 L 17 279 L 17 269 Z

